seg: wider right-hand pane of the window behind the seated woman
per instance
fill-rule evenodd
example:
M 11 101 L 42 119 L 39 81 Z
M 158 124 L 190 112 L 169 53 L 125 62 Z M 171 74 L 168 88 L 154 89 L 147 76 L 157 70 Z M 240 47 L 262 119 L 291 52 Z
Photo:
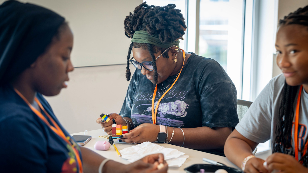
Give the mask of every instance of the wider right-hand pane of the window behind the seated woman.
M 242 28 L 242 0 L 200 0 L 197 54 L 216 60 L 225 69 L 237 98 L 241 98 Z

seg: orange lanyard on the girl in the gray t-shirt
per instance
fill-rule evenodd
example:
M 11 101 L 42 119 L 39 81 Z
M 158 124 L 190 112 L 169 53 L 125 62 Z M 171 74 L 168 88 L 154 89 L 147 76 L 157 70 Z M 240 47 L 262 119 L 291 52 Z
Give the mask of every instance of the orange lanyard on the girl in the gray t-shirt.
M 294 127 L 294 150 L 295 150 L 295 159 L 298 161 L 298 121 L 299 121 L 299 104 L 301 102 L 301 94 L 302 94 L 302 89 L 303 86 L 301 85 L 301 87 L 299 88 L 299 92 L 298 92 L 298 98 L 297 98 L 297 103 L 296 103 L 296 112 L 295 112 L 295 127 Z M 307 151 L 307 147 L 308 147 L 308 140 L 306 141 L 305 147 L 304 147 L 304 152 L 303 155 L 304 156 L 306 154 Z

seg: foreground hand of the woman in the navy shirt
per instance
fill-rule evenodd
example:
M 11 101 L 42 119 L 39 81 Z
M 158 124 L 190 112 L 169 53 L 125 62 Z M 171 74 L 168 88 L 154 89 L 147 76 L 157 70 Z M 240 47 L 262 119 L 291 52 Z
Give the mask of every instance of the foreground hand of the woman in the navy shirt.
M 157 166 L 163 163 L 164 167 L 160 170 Z M 164 161 L 163 154 L 153 154 L 145 156 L 144 158 L 137 160 L 134 163 L 125 165 L 125 172 L 137 172 L 137 173 L 164 173 L 168 170 L 168 164 Z

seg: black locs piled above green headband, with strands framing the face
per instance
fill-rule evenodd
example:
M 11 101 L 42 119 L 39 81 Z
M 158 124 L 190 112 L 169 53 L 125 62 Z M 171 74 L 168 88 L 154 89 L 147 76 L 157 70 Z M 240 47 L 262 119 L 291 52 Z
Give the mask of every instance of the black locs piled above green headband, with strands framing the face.
M 168 4 L 167 6 L 153 6 L 147 5 L 143 2 L 135 8 L 133 13 L 129 13 L 124 20 L 124 34 L 128 38 L 132 38 L 135 31 L 144 30 L 151 35 L 158 35 L 162 43 L 171 42 L 178 39 L 183 39 L 186 25 L 184 22 L 181 10 L 175 9 L 175 4 Z M 157 47 L 148 43 L 132 42 L 128 49 L 126 79 L 129 81 L 131 72 L 129 70 L 129 59 L 132 53 L 132 47 L 148 49 L 152 57 L 152 64 L 154 67 L 153 79 L 157 83 L 157 68 L 154 53 L 163 52 L 165 48 Z M 163 57 L 168 57 L 168 51 L 163 54 Z

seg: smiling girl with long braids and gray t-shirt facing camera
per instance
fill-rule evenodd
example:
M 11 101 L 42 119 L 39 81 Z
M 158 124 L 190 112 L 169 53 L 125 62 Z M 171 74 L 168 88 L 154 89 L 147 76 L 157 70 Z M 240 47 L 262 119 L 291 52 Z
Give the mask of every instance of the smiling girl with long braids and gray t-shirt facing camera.
M 249 173 L 308 172 L 308 6 L 280 20 L 273 78 L 250 106 L 225 144 L 227 158 Z M 252 155 L 271 139 L 266 160 Z

